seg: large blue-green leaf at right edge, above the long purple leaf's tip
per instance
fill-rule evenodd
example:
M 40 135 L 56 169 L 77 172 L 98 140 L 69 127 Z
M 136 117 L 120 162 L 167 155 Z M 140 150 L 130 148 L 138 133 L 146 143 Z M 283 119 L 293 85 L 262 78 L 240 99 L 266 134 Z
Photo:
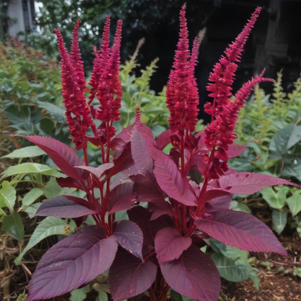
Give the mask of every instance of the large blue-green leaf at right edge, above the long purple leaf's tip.
M 269 146 L 269 157 L 271 159 L 282 158 L 287 150 L 301 140 L 301 126 L 289 124 L 276 133 Z

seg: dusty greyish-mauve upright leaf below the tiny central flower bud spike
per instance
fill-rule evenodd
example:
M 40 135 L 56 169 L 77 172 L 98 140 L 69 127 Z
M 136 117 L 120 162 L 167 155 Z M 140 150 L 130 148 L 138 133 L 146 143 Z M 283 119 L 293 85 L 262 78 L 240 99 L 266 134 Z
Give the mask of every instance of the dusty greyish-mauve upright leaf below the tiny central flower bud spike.
M 138 174 L 145 174 L 147 171 L 153 171 L 153 160 L 148 152 L 148 147 L 153 143 L 153 140 L 149 138 L 143 138 L 137 129 L 132 131 L 132 158 L 135 162 L 135 169 L 137 170 Z

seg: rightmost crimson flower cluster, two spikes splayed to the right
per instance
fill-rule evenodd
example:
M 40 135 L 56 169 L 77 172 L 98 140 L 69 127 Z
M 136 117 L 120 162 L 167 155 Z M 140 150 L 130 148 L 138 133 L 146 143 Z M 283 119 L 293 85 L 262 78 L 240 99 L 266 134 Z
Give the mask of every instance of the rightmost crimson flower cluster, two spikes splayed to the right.
M 214 66 L 213 72 L 209 76 L 209 85 L 207 90 L 211 92 L 209 96 L 213 97 L 213 103 L 205 104 L 206 113 L 212 117 L 211 123 L 205 129 L 205 143 L 213 156 L 207 158 L 210 164 L 208 177 L 216 179 L 228 170 L 227 161 L 229 159 L 227 151 L 229 145 L 233 143 L 236 135 L 234 127 L 238 118 L 238 113 L 244 102 L 249 96 L 252 88 L 260 82 L 272 81 L 272 79 L 263 78 L 263 73 L 245 83 L 235 94 L 236 100 L 231 101 L 231 85 L 234 80 L 234 73 L 237 69 L 235 62 L 239 61 L 243 46 L 247 41 L 249 33 L 259 15 L 261 8 L 256 8 L 250 21 L 244 27 L 243 31 L 237 36 L 236 40 L 225 50 L 225 56 L 222 56 Z

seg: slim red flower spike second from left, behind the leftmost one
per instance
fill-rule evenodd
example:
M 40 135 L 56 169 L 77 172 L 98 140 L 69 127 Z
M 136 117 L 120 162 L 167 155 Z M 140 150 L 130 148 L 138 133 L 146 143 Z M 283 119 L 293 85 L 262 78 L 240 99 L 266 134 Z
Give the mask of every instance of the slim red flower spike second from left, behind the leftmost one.
M 78 45 L 78 29 L 80 23 L 81 20 L 78 19 L 74 25 L 70 61 L 75 70 L 75 76 L 76 76 L 76 81 L 78 83 L 78 86 L 82 89 L 82 91 L 84 91 L 86 89 L 85 73 L 84 73 L 82 56 L 80 54 L 79 45 Z

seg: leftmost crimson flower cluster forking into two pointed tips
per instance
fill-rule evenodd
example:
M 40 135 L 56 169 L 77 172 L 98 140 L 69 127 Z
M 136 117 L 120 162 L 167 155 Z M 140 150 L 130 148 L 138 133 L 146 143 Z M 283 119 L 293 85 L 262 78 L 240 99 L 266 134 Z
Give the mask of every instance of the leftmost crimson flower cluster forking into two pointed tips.
M 66 108 L 68 130 L 76 149 L 85 148 L 87 143 L 86 132 L 92 124 L 90 109 L 84 95 L 85 76 L 83 73 L 81 55 L 78 47 L 78 27 L 80 20 L 74 26 L 71 53 L 64 47 L 63 37 L 58 29 L 57 45 L 62 62 L 62 95 Z

